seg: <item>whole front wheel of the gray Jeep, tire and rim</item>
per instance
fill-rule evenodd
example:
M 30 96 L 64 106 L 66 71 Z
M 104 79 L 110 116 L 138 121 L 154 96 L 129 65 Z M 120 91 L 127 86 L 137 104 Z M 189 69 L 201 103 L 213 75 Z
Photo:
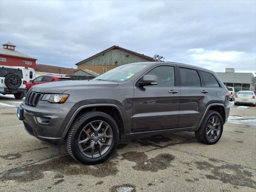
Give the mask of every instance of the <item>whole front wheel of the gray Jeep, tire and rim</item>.
M 112 154 L 118 137 L 118 126 L 111 116 L 103 112 L 84 113 L 68 132 L 68 153 L 82 164 L 97 164 Z

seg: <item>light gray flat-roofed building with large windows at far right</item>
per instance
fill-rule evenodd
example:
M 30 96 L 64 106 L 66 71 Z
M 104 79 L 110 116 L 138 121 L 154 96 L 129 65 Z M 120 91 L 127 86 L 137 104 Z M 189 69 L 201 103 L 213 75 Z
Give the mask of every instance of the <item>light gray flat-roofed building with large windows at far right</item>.
M 252 73 L 240 73 L 235 72 L 234 68 L 226 68 L 225 72 L 217 74 L 227 87 L 234 87 L 236 92 L 256 89 L 256 78 Z

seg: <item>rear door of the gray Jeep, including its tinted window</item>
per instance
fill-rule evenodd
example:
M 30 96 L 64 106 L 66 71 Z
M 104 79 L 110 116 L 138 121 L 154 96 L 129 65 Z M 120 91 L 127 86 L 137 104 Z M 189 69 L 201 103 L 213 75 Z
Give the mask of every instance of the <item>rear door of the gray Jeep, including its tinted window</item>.
M 206 104 L 210 101 L 208 88 L 204 86 L 196 68 L 178 67 L 180 82 L 180 113 L 178 128 L 198 126 Z

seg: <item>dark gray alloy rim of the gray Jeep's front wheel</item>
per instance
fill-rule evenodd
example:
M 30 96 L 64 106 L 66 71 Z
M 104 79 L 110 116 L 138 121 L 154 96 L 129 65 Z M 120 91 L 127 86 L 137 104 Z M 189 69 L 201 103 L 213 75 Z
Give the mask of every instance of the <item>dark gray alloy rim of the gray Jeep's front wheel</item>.
M 113 140 L 110 125 L 102 120 L 88 123 L 81 130 L 78 146 L 82 154 L 89 158 L 97 158 L 105 154 Z

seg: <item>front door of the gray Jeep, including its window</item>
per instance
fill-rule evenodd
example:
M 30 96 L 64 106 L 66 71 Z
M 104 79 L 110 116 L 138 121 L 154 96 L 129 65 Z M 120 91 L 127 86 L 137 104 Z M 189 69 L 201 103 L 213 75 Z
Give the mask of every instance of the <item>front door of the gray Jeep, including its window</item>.
M 180 105 L 176 66 L 156 66 L 146 74 L 157 76 L 158 84 L 134 86 L 133 132 L 176 128 Z

